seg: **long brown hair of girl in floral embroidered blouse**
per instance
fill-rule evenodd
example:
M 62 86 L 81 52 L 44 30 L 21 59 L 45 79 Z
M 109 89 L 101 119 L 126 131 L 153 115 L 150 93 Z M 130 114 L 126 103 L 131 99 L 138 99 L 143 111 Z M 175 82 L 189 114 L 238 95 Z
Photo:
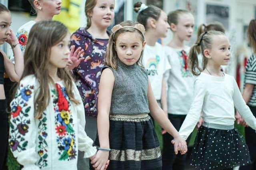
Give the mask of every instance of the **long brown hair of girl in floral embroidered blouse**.
M 24 53 L 24 71 L 21 80 L 33 74 L 39 82 L 39 88 L 34 101 L 35 117 L 41 117 L 44 109 L 50 102 L 50 84 L 54 81 L 49 75 L 51 47 L 62 41 L 68 29 L 59 21 L 39 21 L 30 30 L 28 43 Z M 58 68 L 60 79 L 64 80 L 66 93 L 70 100 L 79 104 L 74 98 L 72 76 L 66 68 Z

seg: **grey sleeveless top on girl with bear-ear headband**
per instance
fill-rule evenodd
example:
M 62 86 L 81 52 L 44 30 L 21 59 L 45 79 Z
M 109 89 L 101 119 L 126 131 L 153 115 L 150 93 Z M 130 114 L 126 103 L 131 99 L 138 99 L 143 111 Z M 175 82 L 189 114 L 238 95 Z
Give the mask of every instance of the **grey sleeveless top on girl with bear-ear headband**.
M 105 66 L 104 68 L 110 68 Z M 102 71 L 104 70 L 102 68 Z M 137 64 L 128 66 L 118 61 L 118 68 L 110 68 L 115 76 L 110 114 L 136 115 L 149 113 L 148 76 Z

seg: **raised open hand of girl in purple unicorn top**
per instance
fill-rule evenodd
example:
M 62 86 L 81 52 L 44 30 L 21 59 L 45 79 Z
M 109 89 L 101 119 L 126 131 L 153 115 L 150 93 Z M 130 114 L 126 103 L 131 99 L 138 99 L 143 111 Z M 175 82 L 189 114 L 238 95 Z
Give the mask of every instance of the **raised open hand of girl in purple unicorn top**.
M 69 70 L 74 69 L 75 67 L 77 67 L 81 63 L 82 60 L 84 60 L 84 57 L 80 58 L 80 56 L 84 52 L 84 50 L 81 49 L 81 47 L 78 47 L 76 49 L 76 51 L 74 51 L 74 50 L 75 50 L 75 46 L 72 45 L 70 47 L 70 60 L 67 63 L 67 68 Z

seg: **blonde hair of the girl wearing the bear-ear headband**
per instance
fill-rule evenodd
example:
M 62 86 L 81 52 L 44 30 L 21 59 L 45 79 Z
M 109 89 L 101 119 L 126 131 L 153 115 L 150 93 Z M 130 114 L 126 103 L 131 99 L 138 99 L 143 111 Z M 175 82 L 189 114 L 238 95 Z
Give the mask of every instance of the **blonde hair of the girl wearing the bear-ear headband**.
M 123 21 L 119 25 L 124 27 L 124 26 L 135 26 L 136 24 L 138 23 L 134 21 Z M 143 34 L 140 31 L 138 31 L 138 29 L 135 29 L 132 27 L 124 27 L 116 31 L 114 34 L 112 33 L 108 40 L 108 47 L 107 47 L 106 55 L 104 58 L 104 62 L 106 66 L 110 66 L 113 69 L 118 68 L 118 56 L 116 54 L 115 43 L 116 43 L 116 40 L 118 39 L 118 36 L 126 32 L 137 32 L 140 35 L 142 43 L 144 42 Z M 136 62 L 136 64 L 140 66 L 142 66 L 142 56 L 143 56 L 143 51 L 140 54 L 140 59 L 138 59 L 138 61 Z

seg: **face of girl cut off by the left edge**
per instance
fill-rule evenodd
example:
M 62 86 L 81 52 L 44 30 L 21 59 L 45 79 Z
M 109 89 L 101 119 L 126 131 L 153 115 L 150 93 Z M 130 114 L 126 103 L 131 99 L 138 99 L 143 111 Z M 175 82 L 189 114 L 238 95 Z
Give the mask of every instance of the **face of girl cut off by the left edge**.
M 0 13 L 0 44 L 3 44 L 9 37 L 11 22 L 12 17 L 10 12 L 4 11 Z

